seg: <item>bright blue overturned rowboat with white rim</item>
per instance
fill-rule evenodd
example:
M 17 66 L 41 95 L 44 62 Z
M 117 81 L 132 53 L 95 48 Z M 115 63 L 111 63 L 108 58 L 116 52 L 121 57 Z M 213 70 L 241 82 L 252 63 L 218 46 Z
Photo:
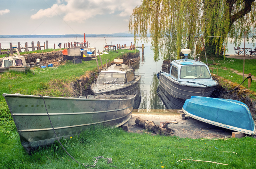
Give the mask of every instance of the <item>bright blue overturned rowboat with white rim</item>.
M 249 108 L 237 100 L 192 96 L 185 101 L 182 110 L 194 119 L 215 126 L 249 135 L 256 132 Z

